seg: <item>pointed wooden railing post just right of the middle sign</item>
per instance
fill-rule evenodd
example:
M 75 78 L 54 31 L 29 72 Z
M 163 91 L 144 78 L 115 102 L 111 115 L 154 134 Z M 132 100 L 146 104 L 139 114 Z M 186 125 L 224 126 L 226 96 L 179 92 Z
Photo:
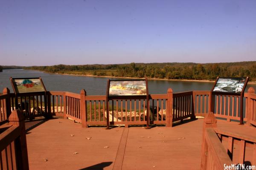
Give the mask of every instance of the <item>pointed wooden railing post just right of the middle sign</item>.
M 172 127 L 172 106 L 173 106 L 173 94 L 172 88 L 168 88 L 167 91 L 167 112 L 166 112 L 166 127 Z

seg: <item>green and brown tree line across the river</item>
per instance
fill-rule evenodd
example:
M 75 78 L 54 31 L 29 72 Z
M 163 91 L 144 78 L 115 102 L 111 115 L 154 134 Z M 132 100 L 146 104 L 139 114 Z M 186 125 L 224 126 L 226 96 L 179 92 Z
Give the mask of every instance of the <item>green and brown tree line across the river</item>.
M 24 69 L 49 73 L 93 74 L 96 76 L 213 80 L 219 77 L 250 77 L 256 80 L 256 61 L 226 63 L 130 63 L 111 65 L 52 65 Z

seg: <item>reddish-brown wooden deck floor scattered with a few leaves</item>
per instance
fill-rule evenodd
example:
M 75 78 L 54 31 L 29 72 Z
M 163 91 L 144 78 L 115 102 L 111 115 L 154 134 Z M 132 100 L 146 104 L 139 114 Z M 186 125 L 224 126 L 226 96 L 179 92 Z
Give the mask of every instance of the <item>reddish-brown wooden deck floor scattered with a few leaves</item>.
M 218 120 L 218 128 L 256 138 L 255 127 L 238 124 Z M 32 125 L 26 123 L 27 128 Z M 26 135 L 29 168 L 198 170 L 202 125 L 203 119 L 198 119 L 169 128 L 115 127 L 105 130 L 105 127 L 81 128 L 79 123 L 68 119 L 50 119 Z

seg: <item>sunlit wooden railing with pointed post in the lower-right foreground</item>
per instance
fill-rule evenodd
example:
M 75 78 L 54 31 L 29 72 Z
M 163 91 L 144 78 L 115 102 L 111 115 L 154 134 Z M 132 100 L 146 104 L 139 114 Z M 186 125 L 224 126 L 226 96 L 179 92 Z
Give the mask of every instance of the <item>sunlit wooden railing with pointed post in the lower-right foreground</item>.
M 201 155 L 201 170 L 224 169 L 224 165 L 231 164 L 256 165 L 256 138 L 219 129 L 211 112 L 204 118 Z

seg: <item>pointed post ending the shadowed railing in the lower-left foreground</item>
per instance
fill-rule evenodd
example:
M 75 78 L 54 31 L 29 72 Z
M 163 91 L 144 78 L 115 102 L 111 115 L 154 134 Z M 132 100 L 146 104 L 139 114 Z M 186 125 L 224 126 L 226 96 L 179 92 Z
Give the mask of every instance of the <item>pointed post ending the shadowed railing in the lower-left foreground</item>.
M 28 170 L 29 159 L 26 145 L 25 119 L 19 110 L 12 111 L 9 116 L 9 125 L 20 127 L 20 137 L 15 139 L 15 157 L 17 169 Z

